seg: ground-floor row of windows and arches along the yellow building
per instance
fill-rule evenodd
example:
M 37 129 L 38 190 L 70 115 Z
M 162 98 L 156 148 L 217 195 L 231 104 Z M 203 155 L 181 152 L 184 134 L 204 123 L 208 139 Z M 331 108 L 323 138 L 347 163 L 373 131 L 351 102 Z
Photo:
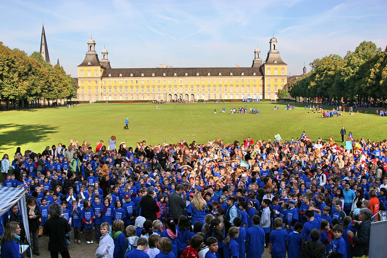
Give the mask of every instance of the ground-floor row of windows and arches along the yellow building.
M 252 98 L 253 99 L 256 99 L 257 98 L 257 96 L 258 95 L 256 95 L 256 94 L 253 94 L 252 95 Z M 270 98 L 270 93 L 267 95 L 268 96 L 268 98 Z M 236 94 L 235 95 L 235 98 L 236 99 L 239 99 L 239 97 L 241 97 L 241 98 L 245 98 L 245 97 L 250 97 L 250 94 L 247 94 L 247 95 L 244 95 L 244 94 L 242 94 L 241 96 L 239 95 L 239 94 Z M 112 96 L 103 96 L 103 100 L 129 100 L 129 98 L 130 98 L 130 100 L 156 100 L 156 95 L 152 95 L 152 99 L 151 99 L 151 96 L 150 95 L 135 95 L 135 96 L 133 96 L 133 95 L 130 95 L 130 96 L 128 96 L 128 95 L 125 95 L 125 96 L 122 96 L 122 95 L 120 95 L 120 96 L 117 96 L 117 95 L 114 95 L 113 97 Z M 171 95 L 171 94 L 169 94 L 168 95 L 168 100 L 172 100 L 172 99 L 185 99 L 185 100 L 194 100 L 195 99 L 195 95 L 194 94 L 191 94 L 190 96 L 188 96 L 188 94 L 185 94 L 184 96 L 182 95 L 182 94 L 180 94 L 180 95 L 177 95 L 177 94 L 175 94 L 175 95 Z M 262 94 L 259 94 L 259 98 L 261 98 L 262 99 Z M 167 99 L 167 95 L 157 95 L 157 100 L 166 100 Z M 201 96 L 198 94 L 198 95 L 196 95 L 196 100 L 200 100 L 200 99 L 202 99 L 202 100 L 204 100 L 205 99 L 205 95 L 204 94 L 202 94 Z M 211 99 L 211 94 L 208 94 L 207 95 L 207 99 Z M 230 99 L 230 100 L 232 100 L 232 99 L 234 99 L 234 95 L 233 94 L 230 94 L 230 95 L 227 95 L 227 94 L 224 94 L 224 95 L 222 95 L 222 94 L 219 94 L 219 95 L 216 95 L 216 94 L 214 94 L 214 95 L 212 95 L 212 99 Z M 82 100 L 82 101 L 84 101 L 85 100 L 85 96 L 80 96 L 80 100 Z M 99 100 L 99 97 L 98 97 L 98 95 L 96 95 L 96 96 L 94 96 L 94 100 L 92 99 L 92 96 L 88 96 L 88 100 L 91 102 L 91 101 L 98 101 Z

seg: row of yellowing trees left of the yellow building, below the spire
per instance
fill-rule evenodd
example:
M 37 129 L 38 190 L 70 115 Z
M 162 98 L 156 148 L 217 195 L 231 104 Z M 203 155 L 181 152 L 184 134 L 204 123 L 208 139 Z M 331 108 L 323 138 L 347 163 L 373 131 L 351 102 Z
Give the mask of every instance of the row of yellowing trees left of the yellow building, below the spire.
M 60 65 L 48 64 L 39 52 L 27 55 L 0 42 L 0 108 L 43 107 L 74 98 L 77 85 Z

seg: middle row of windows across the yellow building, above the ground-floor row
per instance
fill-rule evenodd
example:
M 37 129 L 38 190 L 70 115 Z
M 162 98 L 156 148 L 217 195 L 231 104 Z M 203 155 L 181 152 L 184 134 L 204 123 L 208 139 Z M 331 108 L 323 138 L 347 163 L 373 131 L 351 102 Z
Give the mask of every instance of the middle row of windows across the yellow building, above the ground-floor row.
M 267 86 L 267 91 L 270 91 L 270 87 L 271 86 Z M 284 88 L 284 86 L 282 86 L 282 89 L 283 88 Z M 198 92 L 199 89 L 200 89 L 200 87 L 197 86 L 196 87 L 196 91 Z M 212 88 L 212 91 L 216 91 L 216 89 L 217 89 L 217 87 L 214 86 Z M 222 88 L 222 86 L 218 87 L 219 92 L 222 92 L 222 89 L 224 89 L 224 91 L 228 91 L 228 86 L 224 86 L 224 88 Z M 230 89 L 230 91 L 234 91 L 233 86 L 230 86 L 229 89 Z M 245 86 L 241 86 L 241 91 L 245 91 L 245 89 L 247 89 L 247 91 L 250 91 L 251 88 L 250 88 L 250 86 L 247 86 L 246 88 L 245 88 Z M 257 91 L 257 87 L 256 86 L 253 86 L 252 89 L 253 89 L 253 91 Z M 123 92 L 123 88 L 122 87 L 118 88 L 118 90 L 119 90 L 120 93 Z M 139 87 L 135 87 L 135 92 L 136 93 L 138 93 L 139 90 L 140 90 Z M 141 92 L 145 92 L 144 90 L 145 90 L 144 87 L 141 87 Z M 235 90 L 239 91 L 239 86 L 236 86 Z M 205 91 L 205 86 L 202 86 L 202 91 Z M 211 86 L 207 87 L 207 91 L 211 91 Z M 262 85 L 259 86 L 259 91 L 262 91 Z M 277 91 L 277 85 L 274 85 L 274 91 Z M 102 92 L 106 93 L 106 87 L 102 88 Z M 111 92 L 112 92 L 111 91 L 111 87 L 109 87 L 108 88 L 108 93 L 111 93 Z M 113 88 L 113 92 L 117 93 L 117 88 L 116 87 Z M 127 92 L 128 92 L 128 87 L 125 87 L 125 93 L 127 93 Z M 134 92 L 133 87 L 130 87 L 130 92 L 131 93 Z M 146 87 L 146 92 L 150 92 L 150 87 Z M 155 87 L 152 87 L 152 92 L 156 92 L 156 88 Z M 157 87 L 157 92 L 161 92 L 161 87 Z M 163 87 L 163 92 L 166 92 L 166 87 Z M 172 92 L 172 87 L 168 87 L 168 92 Z M 177 87 L 173 87 L 173 92 L 174 93 L 178 92 L 177 91 Z M 182 93 L 182 92 L 183 92 L 183 87 L 179 87 L 179 93 Z M 185 87 L 185 92 L 186 93 L 188 92 L 188 87 Z M 191 92 L 194 92 L 194 87 L 193 86 L 191 86 Z M 84 87 L 80 87 L 80 93 L 84 93 Z M 87 93 L 91 93 L 91 87 L 87 88 Z M 98 87 L 94 88 L 94 93 L 98 93 Z

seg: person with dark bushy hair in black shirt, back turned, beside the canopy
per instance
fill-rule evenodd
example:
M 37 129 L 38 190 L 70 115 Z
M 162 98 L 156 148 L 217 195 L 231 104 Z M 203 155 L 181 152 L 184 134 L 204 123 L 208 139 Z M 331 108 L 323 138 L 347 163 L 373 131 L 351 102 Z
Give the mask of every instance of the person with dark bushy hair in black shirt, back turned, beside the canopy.
M 62 258 L 70 258 L 67 249 L 66 234 L 69 234 L 71 229 L 65 218 L 60 217 L 63 212 L 60 203 L 52 203 L 48 206 L 51 218 L 49 218 L 44 227 L 43 235 L 48 236 L 48 251 L 51 258 L 58 258 L 58 253 Z

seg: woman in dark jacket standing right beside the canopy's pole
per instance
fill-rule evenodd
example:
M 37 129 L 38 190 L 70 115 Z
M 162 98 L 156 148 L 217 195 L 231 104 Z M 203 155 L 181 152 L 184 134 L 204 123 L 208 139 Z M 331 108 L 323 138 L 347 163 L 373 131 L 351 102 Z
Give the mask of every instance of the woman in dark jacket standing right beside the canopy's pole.
M 35 197 L 31 196 L 27 201 L 28 227 L 29 233 L 32 234 L 33 252 L 35 255 L 39 253 L 38 232 L 39 218 L 41 217 L 40 208 Z

